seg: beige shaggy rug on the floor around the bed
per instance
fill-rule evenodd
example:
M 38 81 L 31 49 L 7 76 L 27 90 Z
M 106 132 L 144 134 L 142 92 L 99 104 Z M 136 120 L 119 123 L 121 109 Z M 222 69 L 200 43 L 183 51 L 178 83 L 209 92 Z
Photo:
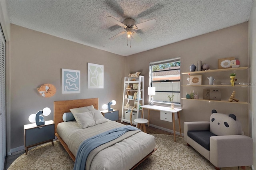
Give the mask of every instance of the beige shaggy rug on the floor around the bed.
M 183 138 L 166 134 L 152 134 L 156 137 L 157 150 L 140 164 L 136 170 L 214 170 L 214 166 Z M 19 156 L 8 170 L 72 170 L 74 162 L 60 142 L 38 146 Z M 121 168 L 122 169 L 122 168 Z M 120 170 L 121 170 L 120 169 Z

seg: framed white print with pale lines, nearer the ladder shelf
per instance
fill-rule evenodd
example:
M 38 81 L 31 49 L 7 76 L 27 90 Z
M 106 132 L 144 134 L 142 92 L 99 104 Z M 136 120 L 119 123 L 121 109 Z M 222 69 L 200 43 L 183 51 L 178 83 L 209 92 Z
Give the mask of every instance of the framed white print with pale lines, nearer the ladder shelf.
M 88 89 L 104 88 L 104 65 L 88 63 Z

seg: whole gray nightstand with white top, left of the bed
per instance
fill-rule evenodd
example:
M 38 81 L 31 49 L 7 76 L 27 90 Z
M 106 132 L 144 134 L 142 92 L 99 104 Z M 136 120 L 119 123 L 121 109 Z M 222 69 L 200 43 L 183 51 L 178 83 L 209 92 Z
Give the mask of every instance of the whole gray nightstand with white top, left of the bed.
M 43 144 L 46 142 L 52 142 L 54 135 L 54 121 L 45 121 L 44 125 L 36 126 L 36 123 L 24 125 L 24 146 L 26 149 L 26 154 L 28 153 L 28 148 Z

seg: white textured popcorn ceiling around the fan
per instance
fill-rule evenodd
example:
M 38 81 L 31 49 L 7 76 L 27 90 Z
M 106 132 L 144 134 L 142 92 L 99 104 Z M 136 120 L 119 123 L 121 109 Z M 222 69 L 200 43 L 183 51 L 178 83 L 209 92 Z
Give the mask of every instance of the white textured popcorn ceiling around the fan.
M 132 55 L 248 21 L 252 0 L 8 0 L 10 22 L 123 56 Z M 136 30 L 141 42 L 127 46 L 125 31 L 106 19 L 157 25 Z

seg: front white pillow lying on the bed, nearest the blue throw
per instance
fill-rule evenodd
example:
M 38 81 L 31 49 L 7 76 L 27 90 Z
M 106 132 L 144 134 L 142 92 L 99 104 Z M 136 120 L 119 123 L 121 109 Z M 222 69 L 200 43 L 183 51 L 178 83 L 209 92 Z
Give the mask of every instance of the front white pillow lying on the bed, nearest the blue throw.
M 73 115 L 80 129 L 92 127 L 95 125 L 92 113 L 90 112 L 73 113 Z

